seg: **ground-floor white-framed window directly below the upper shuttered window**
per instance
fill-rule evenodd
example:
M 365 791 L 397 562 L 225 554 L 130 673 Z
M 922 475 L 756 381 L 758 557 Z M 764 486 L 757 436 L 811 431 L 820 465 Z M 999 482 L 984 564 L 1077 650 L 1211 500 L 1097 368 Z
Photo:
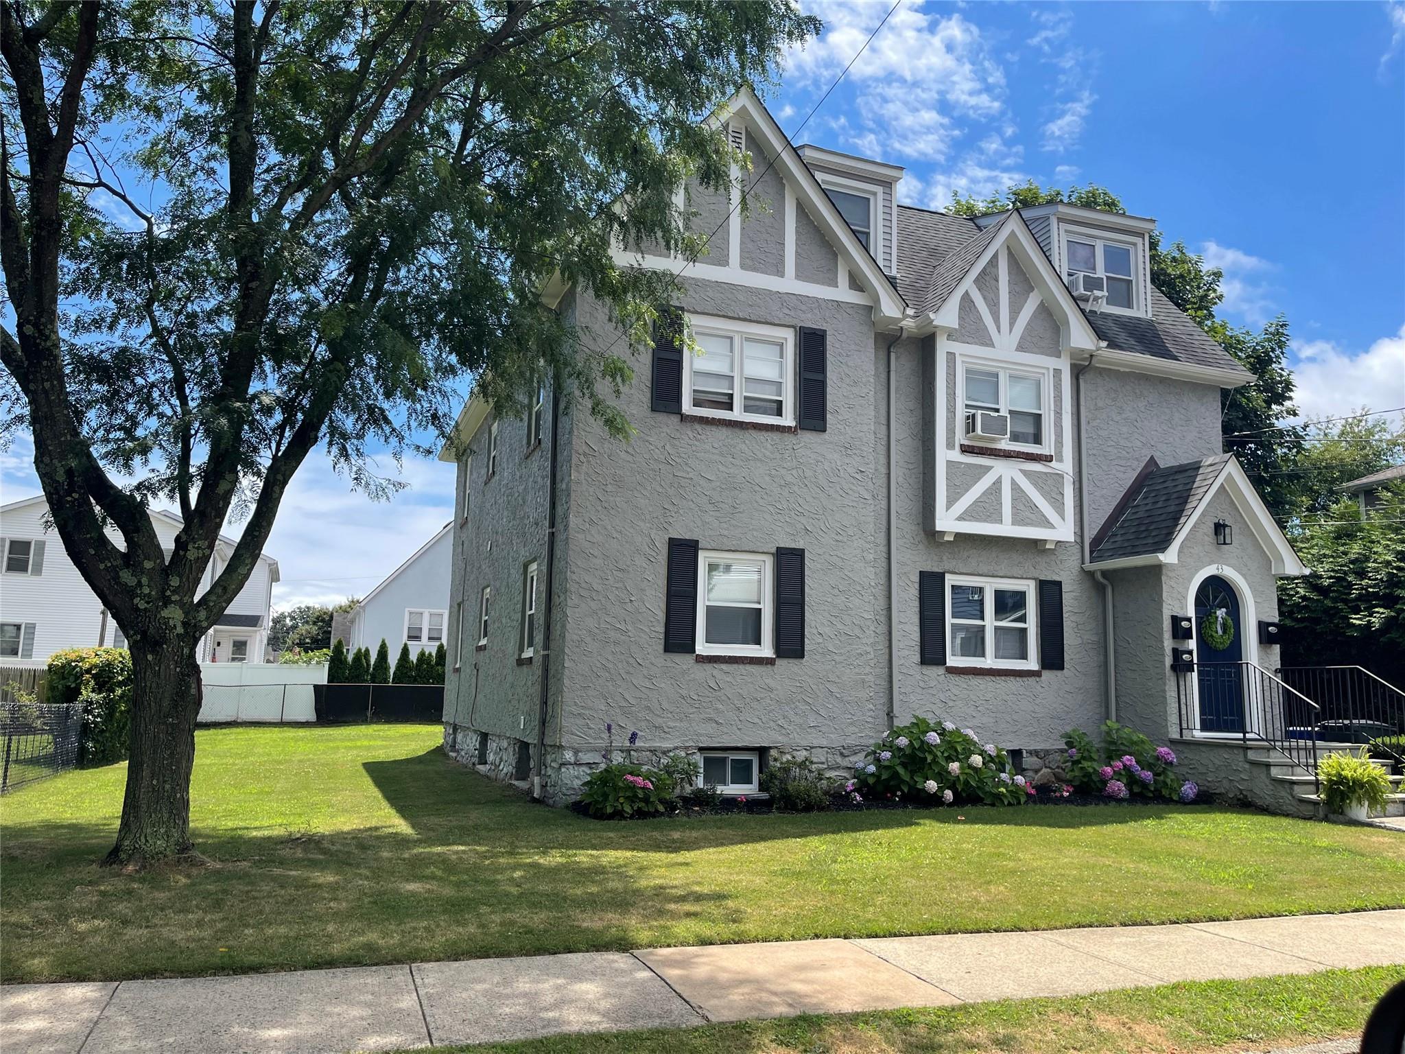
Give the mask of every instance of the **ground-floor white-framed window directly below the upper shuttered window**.
M 776 653 L 774 583 L 764 552 L 700 552 L 697 651 L 701 655 Z

